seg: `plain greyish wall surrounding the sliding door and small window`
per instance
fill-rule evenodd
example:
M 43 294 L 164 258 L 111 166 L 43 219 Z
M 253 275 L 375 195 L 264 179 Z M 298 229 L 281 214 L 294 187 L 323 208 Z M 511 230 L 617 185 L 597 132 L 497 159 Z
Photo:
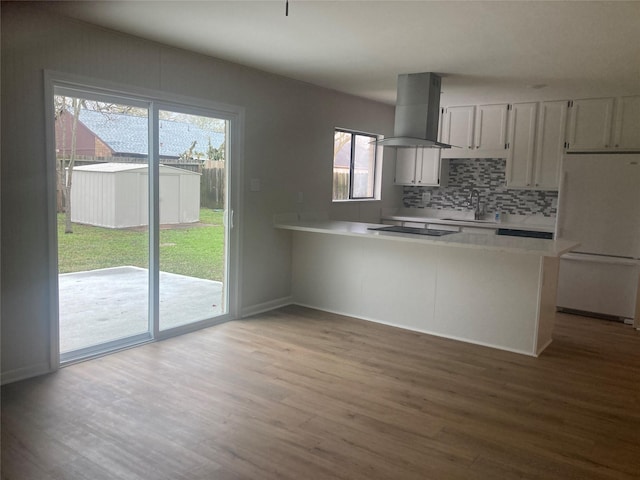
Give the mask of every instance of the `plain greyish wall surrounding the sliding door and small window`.
M 47 371 L 50 302 L 43 69 L 242 106 L 245 117 L 241 293 L 244 310 L 291 294 L 289 232 L 274 213 L 329 211 L 375 220 L 401 189 L 384 172 L 383 202 L 332 205 L 336 126 L 389 135 L 393 107 L 50 14 L 2 5 L 2 373 Z M 10 119 L 10 121 L 8 120 Z M 262 190 L 248 182 L 259 178 Z M 296 203 L 297 192 L 305 203 Z

